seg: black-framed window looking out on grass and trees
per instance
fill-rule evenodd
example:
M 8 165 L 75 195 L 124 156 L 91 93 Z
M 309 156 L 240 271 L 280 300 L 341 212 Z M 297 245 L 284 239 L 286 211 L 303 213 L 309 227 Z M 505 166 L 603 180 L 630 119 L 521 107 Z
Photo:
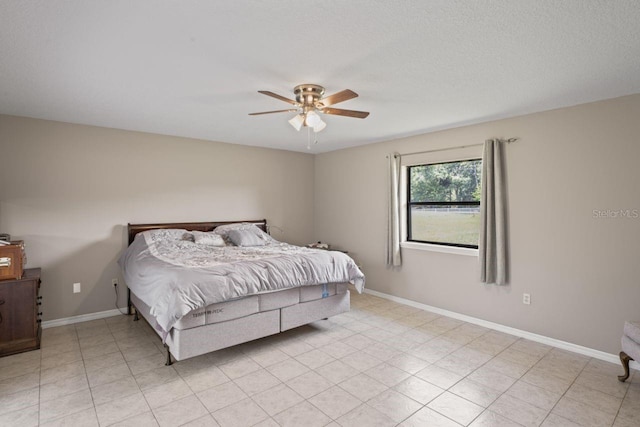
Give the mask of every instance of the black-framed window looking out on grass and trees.
M 478 248 L 482 160 L 407 167 L 407 241 Z

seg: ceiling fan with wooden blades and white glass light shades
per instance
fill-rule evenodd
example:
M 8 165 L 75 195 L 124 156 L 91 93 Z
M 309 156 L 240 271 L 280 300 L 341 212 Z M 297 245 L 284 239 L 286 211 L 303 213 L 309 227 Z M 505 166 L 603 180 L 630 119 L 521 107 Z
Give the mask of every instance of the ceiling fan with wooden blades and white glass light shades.
M 287 102 L 295 108 L 290 108 L 287 110 L 275 110 L 275 111 L 263 111 L 261 113 L 250 113 L 250 116 L 259 116 L 262 114 L 272 114 L 272 113 L 298 113 L 294 118 L 289 120 L 289 124 L 293 126 L 296 130 L 300 130 L 302 126 L 307 126 L 313 129 L 314 132 L 320 132 L 324 129 L 327 124 L 322 121 L 320 115 L 318 113 L 324 114 L 333 114 L 336 116 L 346 116 L 346 117 L 355 117 L 358 119 L 366 118 L 369 113 L 366 111 L 355 111 L 355 110 L 342 110 L 340 108 L 329 108 L 332 105 L 335 105 L 339 102 L 348 101 L 349 99 L 356 98 L 358 96 L 352 90 L 345 89 L 338 93 L 334 93 L 333 95 L 329 95 L 323 98 L 324 88 L 319 85 L 314 84 L 301 84 L 296 86 L 293 89 L 293 93 L 295 94 L 296 100 L 285 98 L 284 96 L 280 96 L 276 93 L 269 92 L 268 90 L 259 90 L 259 93 L 262 93 L 267 96 L 271 96 L 273 98 L 279 99 L 281 101 Z

